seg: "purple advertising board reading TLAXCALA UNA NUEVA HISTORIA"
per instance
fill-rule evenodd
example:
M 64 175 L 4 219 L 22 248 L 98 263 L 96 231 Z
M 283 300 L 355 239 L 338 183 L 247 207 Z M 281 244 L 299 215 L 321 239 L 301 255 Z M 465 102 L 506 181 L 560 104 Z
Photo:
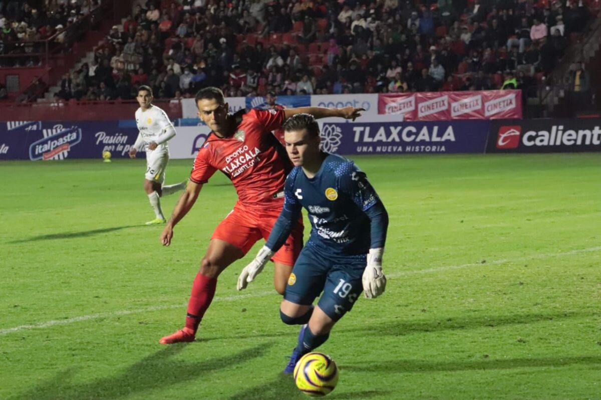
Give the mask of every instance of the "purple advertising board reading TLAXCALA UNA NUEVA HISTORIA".
M 490 121 L 320 122 L 322 148 L 336 154 L 483 153 Z

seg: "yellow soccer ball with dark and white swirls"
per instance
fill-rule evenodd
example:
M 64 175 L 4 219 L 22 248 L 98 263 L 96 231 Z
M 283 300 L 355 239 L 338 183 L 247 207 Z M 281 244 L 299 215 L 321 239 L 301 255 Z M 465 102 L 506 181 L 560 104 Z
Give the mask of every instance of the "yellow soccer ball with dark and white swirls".
M 294 383 L 308 396 L 325 396 L 338 383 L 338 367 L 323 353 L 307 353 L 294 367 Z

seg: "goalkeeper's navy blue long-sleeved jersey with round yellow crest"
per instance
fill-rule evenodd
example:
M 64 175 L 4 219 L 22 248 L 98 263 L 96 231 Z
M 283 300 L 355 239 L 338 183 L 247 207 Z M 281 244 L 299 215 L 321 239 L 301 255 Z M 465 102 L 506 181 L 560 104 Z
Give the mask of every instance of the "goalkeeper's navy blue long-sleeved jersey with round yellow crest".
M 332 255 L 362 255 L 370 248 L 383 247 L 386 226 L 380 232 L 382 227 L 374 227 L 371 222 L 377 218 L 370 218 L 370 213 L 385 214 L 386 210 L 353 161 L 328 154 L 313 178 L 308 178 L 301 167 L 294 167 L 286 179 L 284 196 L 284 209 L 267 247 L 279 248 L 302 207 L 311 221 L 307 246 L 317 246 Z M 373 228 L 379 234 L 372 235 Z

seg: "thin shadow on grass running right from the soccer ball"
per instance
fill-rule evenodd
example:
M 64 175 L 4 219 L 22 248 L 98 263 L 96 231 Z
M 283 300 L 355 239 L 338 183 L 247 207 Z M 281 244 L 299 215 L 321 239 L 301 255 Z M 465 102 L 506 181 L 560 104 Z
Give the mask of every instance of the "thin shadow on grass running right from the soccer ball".
M 561 367 L 575 364 L 599 365 L 601 356 L 541 357 L 524 359 L 485 359 L 472 361 L 432 362 L 425 360 L 394 360 L 341 365 L 342 371 L 357 372 L 445 372 L 487 371 L 490 369 Z

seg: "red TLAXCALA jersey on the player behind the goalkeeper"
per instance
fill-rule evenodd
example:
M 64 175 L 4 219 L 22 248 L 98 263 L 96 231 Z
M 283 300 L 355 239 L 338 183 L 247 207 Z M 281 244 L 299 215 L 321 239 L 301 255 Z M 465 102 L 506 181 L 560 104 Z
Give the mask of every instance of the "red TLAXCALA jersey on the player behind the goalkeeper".
M 230 178 L 238 201 L 253 208 L 281 208 L 290 161 L 271 133 L 284 123 L 282 110 L 250 110 L 231 137 L 211 132 L 198 151 L 190 180 L 204 184 L 221 170 Z

